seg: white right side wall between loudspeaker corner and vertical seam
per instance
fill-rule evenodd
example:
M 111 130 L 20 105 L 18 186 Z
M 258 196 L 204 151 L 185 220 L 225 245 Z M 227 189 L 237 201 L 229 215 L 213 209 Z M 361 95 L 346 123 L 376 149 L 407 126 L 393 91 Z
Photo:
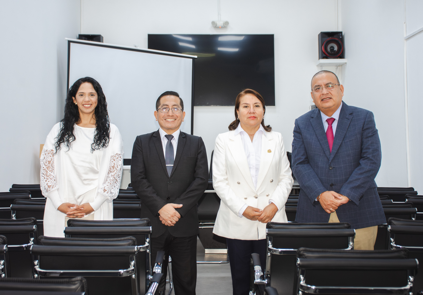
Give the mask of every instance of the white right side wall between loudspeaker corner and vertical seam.
M 404 1 L 342 1 L 341 11 L 348 60 L 344 101 L 374 113 L 382 144 L 377 185 L 406 187 Z

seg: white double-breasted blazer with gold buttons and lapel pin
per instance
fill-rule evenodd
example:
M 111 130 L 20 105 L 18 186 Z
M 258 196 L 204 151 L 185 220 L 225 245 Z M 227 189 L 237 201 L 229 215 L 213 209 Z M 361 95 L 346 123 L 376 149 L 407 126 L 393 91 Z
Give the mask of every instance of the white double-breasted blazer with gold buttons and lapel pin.
M 279 132 L 273 131 L 264 132 L 262 136 L 257 188 L 251 178 L 241 135 L 229 131 L 216 138 L 213 187 L 222 201 L 214 224 L 214 234 L 238 240 L 265 239 L 266 223 L 240 218 L 238 212 L 244 204 L 264 209 L 270 199 L 280 208 L 272 221 L 288 222 L 285 203 L 294 180 L 283 138 Z

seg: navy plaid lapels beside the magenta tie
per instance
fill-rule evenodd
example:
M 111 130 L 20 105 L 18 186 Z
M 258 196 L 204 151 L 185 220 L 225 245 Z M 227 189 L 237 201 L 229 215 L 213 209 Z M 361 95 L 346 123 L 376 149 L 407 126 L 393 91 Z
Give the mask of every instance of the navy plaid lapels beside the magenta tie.
M 323 123 L 321 121 L 320 110 L 314 109 L 313 112 L 310 113 L 311 125 L 313 126 L 314 132 L 316 132 L 316 136 L 319 139 L 319 143 L 324 150 L 326 157 L 329 159 L 329 163 L 338 151 L 352 119 L 352 109 L 349 108 L 345 102 L 342 102 L 342 104 L 341 113 L 339 113 L 338 125 L 336 126 L 335 138 L 333 139 L 332 152 L 330 152 L 329 144 L 327 143 L 326 133 L 324 132 Z

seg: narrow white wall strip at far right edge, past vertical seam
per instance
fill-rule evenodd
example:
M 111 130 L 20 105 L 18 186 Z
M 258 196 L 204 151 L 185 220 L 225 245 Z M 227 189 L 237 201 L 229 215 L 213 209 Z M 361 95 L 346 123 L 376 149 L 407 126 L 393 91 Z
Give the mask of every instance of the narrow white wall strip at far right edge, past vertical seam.
M 406 36 L 423 28 L 423 1 L 407 0 Z M 407 39 L 407 102 L 411 185 L 423 194 L 423 32 Z

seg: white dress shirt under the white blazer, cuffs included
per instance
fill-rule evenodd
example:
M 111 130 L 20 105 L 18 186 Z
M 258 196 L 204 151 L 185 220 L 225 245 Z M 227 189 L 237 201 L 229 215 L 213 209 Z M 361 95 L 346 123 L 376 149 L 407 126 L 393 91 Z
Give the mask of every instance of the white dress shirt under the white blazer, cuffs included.
M 235 129 L 234 135 L 241 135 L 242 145 L 244 146 L 244 152 L 247 156 L 248 167 L 250 168 L 251 178 L 253 179 L 254 187 L 257 189 L 257 180 L 258 180 L 258 171 L 260 171 L 260 159 L 261 159 L 261 138 L 263 137 L 264 130 L 263 126 L 260 124 L 258 130 L 255 132 L 253 137 L 253 142 L 251 142 L 251 138 L 247 132 L 242 129 L 241 124 L 238 124 L 238 127 Z M 269 204 L 275 202 L 273 200 L 269 200 Z M 275 204 L 276 205 L 276 204 Z M 247 209 L 248 205 L 245 204 L 242 206 L 241 210 L 238 212 L 238 216 L 242 218 L 242 214 L 244 213 L 245 209 Z M 277 207 L 277 206 L 276 206 Z M 277 208 L 279 211 L 280 209 Z

